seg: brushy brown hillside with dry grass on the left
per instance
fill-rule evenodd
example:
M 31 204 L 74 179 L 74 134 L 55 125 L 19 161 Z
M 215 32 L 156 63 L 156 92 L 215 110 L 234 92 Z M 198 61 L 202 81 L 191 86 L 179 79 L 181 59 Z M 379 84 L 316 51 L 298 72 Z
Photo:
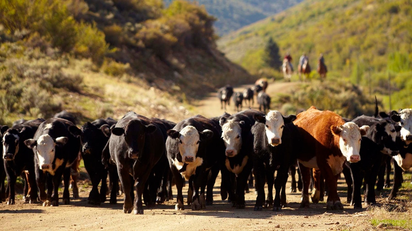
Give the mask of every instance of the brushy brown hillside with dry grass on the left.
M 0 124 L 60 110 L 177 120 L 254 77 L 216 49 L 214 18 L 161 0 L 0 0 Z

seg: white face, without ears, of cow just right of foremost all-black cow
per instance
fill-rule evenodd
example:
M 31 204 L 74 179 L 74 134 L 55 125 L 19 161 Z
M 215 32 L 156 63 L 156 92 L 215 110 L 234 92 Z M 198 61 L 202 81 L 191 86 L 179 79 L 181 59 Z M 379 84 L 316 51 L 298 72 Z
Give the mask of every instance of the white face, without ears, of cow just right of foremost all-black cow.
M 179 152 L 182 161 L 190 163 L 196 159 L 199 148 L 199 132 L 193 126 L 186 126 L 180 131 Z

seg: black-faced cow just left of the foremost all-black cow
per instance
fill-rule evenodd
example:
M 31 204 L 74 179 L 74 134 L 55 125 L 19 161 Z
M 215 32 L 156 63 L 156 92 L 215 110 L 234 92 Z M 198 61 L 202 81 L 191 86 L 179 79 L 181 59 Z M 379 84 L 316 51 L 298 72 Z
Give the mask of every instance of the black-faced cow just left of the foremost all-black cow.
M 92 190 L 87 199 L 90 204 L 98 205 L 106 201 L 106 192 L 108 191 L 107 176 L 108 169 L 102 163 L 102 151 L 107 144 L 107 137 L 101 130 L 106 125 L 109 128 L 116 124 L 117 121 L 112 118 L 96 119 L 93 122 L 86 122 L 81 126 L 81 156 L 84 161 L 84 167 L 89 173 L 92 181 Z M 112 179 L 110 179 L 112 180 Z M 101 182 L 100 193 L 98 185 Z M 113 188 L 110 197 L 110 203 L 116 203 L 117 188 Z

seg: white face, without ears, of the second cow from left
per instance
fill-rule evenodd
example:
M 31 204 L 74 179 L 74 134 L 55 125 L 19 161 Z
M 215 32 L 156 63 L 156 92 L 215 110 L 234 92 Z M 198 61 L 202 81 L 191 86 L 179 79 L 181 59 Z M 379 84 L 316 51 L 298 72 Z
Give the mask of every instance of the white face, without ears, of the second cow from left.
M 54 140 L 48 135 L 41 135 L 37 140 L 37 157 L 39 159 L 39 166 L 42 169 L 43 164 L 51 166 L 55 155 L 56 144 Z M 43 169 L 42 169 L 43 170 Z

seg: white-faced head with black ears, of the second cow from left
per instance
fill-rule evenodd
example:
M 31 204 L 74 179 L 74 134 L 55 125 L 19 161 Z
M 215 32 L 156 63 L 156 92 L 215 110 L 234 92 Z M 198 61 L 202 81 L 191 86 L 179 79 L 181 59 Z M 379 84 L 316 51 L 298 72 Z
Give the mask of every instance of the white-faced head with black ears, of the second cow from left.
M 28 139 L 24 144 L 33 149 L 34 155 L 39 160 L 38 164 L 43 171 L 53 171 L 53 161 L 56 154 L 56 148 L 61 148 L 67 143 L 67 137 L 53 139 L 50 135 L 44 134 L 38 140 Z

